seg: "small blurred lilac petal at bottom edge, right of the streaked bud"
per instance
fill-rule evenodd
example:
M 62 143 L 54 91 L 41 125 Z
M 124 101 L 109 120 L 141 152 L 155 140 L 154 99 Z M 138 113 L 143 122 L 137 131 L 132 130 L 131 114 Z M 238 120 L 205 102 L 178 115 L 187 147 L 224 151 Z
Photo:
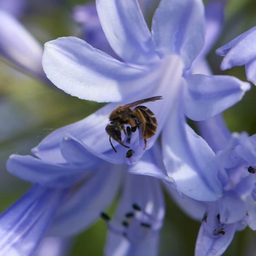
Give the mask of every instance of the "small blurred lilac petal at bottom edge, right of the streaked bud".
M 45 237 L 34 256 L 68 256 L 71 241 L 70 238 Z

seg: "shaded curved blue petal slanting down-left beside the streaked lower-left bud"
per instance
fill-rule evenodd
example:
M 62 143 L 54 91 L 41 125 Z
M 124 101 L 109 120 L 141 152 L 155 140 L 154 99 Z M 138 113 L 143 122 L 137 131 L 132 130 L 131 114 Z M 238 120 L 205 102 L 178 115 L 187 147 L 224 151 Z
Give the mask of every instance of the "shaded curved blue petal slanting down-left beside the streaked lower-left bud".
M 120 167 L 102 164 L 60 207 L 49 233 L 69 236 L 86 229 L 112 203 L 122 175 Z

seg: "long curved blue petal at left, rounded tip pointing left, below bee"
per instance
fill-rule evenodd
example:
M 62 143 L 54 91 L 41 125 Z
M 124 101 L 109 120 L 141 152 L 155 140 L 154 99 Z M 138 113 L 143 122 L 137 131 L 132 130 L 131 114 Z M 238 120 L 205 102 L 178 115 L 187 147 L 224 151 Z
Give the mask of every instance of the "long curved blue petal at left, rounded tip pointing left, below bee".
M 77 184 L 88 175 L 88 169 L 95 168 L 98 162 L 98 159 L 87 161 L 86 168 L 85 164 L 82 164 L 82 166 L 68 163 L 56 164 L 28 155 L 11 155 L 7 161 L 6 168 L 11 174 L 20 179 L 46 187 L 62 188 Z

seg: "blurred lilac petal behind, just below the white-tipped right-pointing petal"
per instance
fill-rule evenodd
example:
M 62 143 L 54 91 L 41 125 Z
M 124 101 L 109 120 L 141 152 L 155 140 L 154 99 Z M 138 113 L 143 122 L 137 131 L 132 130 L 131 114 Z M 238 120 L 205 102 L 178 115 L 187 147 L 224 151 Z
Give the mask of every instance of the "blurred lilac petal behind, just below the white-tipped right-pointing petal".
M 196 125 L 200 130 L 201 136 L 215 153 L 223 149 L 231 138 L 231 133 L 226 127 L 221 114 L 205 121 L 196 122 Z

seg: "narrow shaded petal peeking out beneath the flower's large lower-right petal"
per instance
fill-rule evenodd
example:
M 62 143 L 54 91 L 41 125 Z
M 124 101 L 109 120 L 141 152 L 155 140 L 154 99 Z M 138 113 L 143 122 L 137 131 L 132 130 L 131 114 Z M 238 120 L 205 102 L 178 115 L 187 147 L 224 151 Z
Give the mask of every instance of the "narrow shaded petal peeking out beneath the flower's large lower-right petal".
M 174 202 L 187 214 L 190 218 L 195 220 L 202 220 L 206 210 L 206 203 L 192 199 L 185 195 L 180 195 L 177 189 L 165 184 L 165 189 L 169 195 L 174 199 Z

